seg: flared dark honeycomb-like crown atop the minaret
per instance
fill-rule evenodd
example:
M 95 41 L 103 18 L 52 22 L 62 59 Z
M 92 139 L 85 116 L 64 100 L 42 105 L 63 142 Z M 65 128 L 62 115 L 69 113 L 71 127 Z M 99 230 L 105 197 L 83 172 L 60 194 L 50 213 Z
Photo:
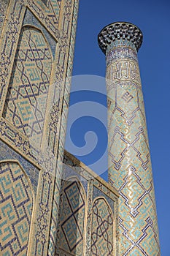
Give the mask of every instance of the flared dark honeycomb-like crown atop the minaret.
M 104 27 L 98 34 L 98 45 L 106 54 L 112 42 L 117 40 L 131 42 L 136 51 L 142 45 L 142 31 L 134 24 L 127 22 L 115 22 Z

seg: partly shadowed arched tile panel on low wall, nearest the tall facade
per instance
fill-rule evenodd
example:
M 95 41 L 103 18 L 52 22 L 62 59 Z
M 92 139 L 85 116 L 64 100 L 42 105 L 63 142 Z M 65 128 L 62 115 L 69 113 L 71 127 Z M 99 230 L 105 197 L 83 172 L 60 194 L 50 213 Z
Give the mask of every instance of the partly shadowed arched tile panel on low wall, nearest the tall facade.
M 64 181 L 59 248 L 71 255 L 82 255 L 85 194 L 79 181 Z

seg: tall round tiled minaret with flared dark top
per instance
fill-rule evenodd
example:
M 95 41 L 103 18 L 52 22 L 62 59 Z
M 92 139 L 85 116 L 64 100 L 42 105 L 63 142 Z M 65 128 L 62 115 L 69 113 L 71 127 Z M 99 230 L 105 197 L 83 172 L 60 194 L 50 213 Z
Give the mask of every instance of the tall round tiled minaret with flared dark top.
M 155 192 L 137 51 L 142 31 L 109 24 L 98 34 L 107 61 L 109 183 L 120 194 L 120 255 L 160 255 Z

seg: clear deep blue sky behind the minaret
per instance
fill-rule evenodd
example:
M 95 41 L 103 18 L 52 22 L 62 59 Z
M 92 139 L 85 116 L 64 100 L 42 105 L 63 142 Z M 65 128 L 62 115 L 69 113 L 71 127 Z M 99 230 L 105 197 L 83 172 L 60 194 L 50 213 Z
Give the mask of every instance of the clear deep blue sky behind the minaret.
M 170 1 L 80 0 L 73 75 L 104 78 L 105 56 L 98 48 L 97 36 L 104 26 L 116 21 L 134 23 L 142 30 L 144 37 L 138 57 L 150 139 L 161 255 L 170 256 Z M 106 104 L 102 94 L 96 92 L 92 97 L 88 92 L 84 92 L 83 96 L 82 91 L 80 94 L 74 92 L 70 105 L 84 100 Z M 98 118 L 96 124 L 92 118 L 77 119 L 71 135 L 77 146 L 84 146 L 83 138 L 88 130 L 93 130 L 100 137 L 99 147 L 96 146 L 93 154 L 87 154 L 86 158 L 79 157 L 91 165 L 91 159 L 101 157 L 101 148 L 106 149 L 107 133 L 98 123 Z M 101 176 L 107 179 L 107 173 Z

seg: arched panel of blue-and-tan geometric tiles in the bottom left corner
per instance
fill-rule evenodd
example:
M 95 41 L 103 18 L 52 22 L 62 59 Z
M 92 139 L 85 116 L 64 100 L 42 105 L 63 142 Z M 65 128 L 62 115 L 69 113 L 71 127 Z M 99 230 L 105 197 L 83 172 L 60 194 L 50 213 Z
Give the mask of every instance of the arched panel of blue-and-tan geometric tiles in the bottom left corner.
M 16 162 L 0 164 L 1 255 L 26 255 L 33 209 L 33 195 Z

